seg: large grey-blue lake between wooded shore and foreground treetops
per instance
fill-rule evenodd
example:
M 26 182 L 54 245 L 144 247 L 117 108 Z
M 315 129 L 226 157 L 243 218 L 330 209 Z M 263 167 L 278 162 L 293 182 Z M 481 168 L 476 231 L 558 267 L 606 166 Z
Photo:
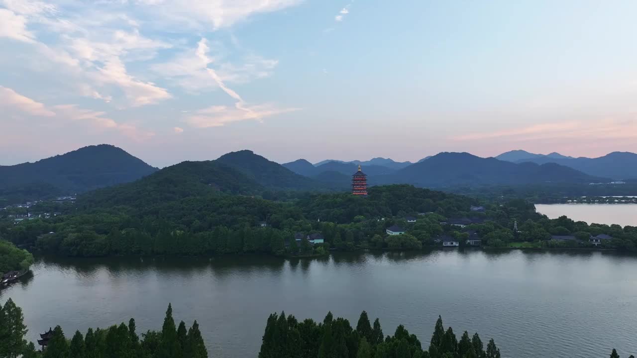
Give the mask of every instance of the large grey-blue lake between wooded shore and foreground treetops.
M 253 358 L 269 313 L 355 326 L 361 310 L 385 334 L 404 324 L 428 347 L 434 323 L 494 338 L 503 357 L 622 357 L 637 353 L 637 258 L 603 252 L 340 254 L 287 261 L 243 256 L 161 261 L 45 261 L 0 291 L 23 308 L 29 338 L 60 324 L 108 327 L 130 317 L 161 329 L 166 306 L 197 319 L 210 357 Z

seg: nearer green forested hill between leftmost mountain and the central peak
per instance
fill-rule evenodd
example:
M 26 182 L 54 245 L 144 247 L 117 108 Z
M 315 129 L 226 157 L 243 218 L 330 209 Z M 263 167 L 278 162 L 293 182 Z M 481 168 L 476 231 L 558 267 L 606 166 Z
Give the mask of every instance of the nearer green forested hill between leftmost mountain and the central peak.
M 215 192 L 260 193 L 264 187 L 238 169 L 217 161 L 181 162 L 136 182 L 88 192 L 78 198 L 79 208 L 129 206 L 148 208 L 185 197 Z

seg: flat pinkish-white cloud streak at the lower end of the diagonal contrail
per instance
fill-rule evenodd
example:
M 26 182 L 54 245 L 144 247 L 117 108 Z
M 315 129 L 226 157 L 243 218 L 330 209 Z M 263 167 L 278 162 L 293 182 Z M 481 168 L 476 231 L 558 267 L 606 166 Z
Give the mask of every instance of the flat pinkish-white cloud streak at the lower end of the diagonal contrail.
M 273 104 L 248 106 L 236 103 L 234 107 L 211 106 L 184 118 L 184 122 L 196 128 L 221 127 L 242 120 L 262 120 L 265 117 L 297 111 L 299 108 L 278 108 Z

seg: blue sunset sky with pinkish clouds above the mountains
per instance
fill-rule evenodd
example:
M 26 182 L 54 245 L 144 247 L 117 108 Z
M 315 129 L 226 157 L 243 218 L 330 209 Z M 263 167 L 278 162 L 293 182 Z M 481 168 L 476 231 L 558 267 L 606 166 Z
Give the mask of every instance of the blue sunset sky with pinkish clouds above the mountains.
M 637 2 L 0 0 L 0 164 L 637 152 Z

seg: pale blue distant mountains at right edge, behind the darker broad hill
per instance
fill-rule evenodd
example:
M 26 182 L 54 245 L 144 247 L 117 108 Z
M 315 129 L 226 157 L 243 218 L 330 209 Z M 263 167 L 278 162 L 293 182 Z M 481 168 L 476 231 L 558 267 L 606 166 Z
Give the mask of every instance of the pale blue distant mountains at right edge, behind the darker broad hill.
M 637 178 L 637 154 L 630 152 L 613 152 L 598 158 L 574 158 L 558 153 L 543 155 L 525 152 L 524 150 L 513 150 L 512 152 L 500 154 L 496 158 L 515 163 L 555 163 L 582 171 L 588 175 L 612 178 L 613 180 Z

